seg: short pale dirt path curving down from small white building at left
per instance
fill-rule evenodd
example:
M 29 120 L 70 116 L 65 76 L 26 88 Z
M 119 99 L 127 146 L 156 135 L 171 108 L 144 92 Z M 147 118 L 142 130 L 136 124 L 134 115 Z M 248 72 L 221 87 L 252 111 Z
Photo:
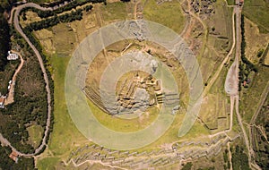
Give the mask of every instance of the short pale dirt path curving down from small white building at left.
M 14 89 L 15 89 L 15 81 L 16 81 L 16 77 L 17 77 L 17 74 L 21 71 L 22 69 L 22 66 L 24 64 L 24 60 L 22 58 L 22 55 L 18 52 L 15 52 L 12 50 L 12 53 L 14 54 L 17 54 L 20 56 L 20 59 L 21 59 L 21 64 L 18 66 L 17 70 L 15 71 L 15 73 L 13 74 L 13 79 L 12 79 L 12 83 L 11 83 L 11 87 L 9 89 L 9 93 L 8 93 L 8 96 L 7 98 L 5 99 L 4 101 L 4 105 L 8 105 L 8 104 L 11 104 L 14 102 Z

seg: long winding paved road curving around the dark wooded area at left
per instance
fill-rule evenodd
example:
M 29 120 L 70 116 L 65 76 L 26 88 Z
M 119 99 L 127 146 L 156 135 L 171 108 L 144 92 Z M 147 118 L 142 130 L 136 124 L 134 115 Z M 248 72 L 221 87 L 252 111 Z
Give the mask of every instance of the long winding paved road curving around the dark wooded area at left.
M 44 137 L 42 139 L 41 145 L 39 146 L 38 149 L 36 149 L 34 151 L 34 153 L 25 154 L 25 153 L 22 153 L 22 152 L 20 152 L 19 150 L 15 149 L 15 148 L 13 148 L 12 144 L 8 140 L 4 139 L 3 135 L 0 133 L 0 141 L 2 143 L 4 143 L 5 145 L 10 146 L 14 151 L 16 151 L 20 156 L 23 156 L 23 157 L 31 157 L 31 156 L 34 156 L 34 155 L 38 154 L 39 151 L 41 149 L 43 149 L 43 147 L 46 146 L 46 140 L 48 138 L 48 131 L 49 131 L 50 119 L 51 119 L 51 105 L 50 105 L 50 102 L 51 102 L 51 94 L 50 94 L 50 89 L 49 89 L 48 74 L 46 72 L 46 68 L 44 66 L 42 57 L 39 54 L 39 51 L 30 42 L 29 38 L 27 38 L 27 36 L 23 33 L 22 28 L 21 28 L 21 25 L 20 25 L 20 22 L 19 22 L 20 12 L 22 11 L 23 8 L 27 8 L 27 7 L 34 7 L 34 8 L 37 8 L 39 10 L 42 10 L 42 11 L 52 10 L 52 8 L 43 8 L 43 7 L 39 6 L 38 4 L 29 3 L 29 4 L 22 4 L 22 5 L 18 6 L 18 7 L 16 7 L 15 8 L 15 13 L 13 14 L 14 15 L 13 16 L 13 26 L 14 26 L 14 28 L 22 35 L 22 38 L 24 38 L 26 40 L 26 42 L 29 44 L 29 46 L 32 48 L 32 50 L 34 51 L 34 53 L 38 57 L 39 65 L 40 65 L 41 71 L 43 72 L 44 81 L 46 83 L 46 90 L 47 90 L 47 94 L 48 94 L 47 95 L 48 96 L 48 98 L 47 98 L 47 102 L 48 102 L 48 119 L 47 119 L 47 123 L 46 123 L 46 129 L 45 129 L 45 132 L 44 132 Z

